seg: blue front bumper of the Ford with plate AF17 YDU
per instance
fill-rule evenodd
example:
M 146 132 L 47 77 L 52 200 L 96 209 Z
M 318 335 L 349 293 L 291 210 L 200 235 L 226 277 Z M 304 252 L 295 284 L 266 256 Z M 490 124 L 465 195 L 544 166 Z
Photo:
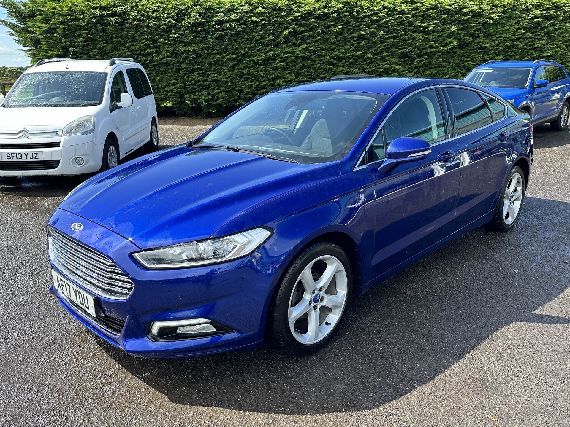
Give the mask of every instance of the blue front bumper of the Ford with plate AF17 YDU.
M 80 222 L 82 231 L 72 231 Z M 120 333 L 109 331 L 97 319 L 67 301 L 54 286 L 50 292 L 76 319 L 101 338 L 134 356 L 170 358 L 255 348 L 263 330 L 275 282 L 280 270 L 252 257 L 189 269 L 147 270 L 131 256 L 140 249 L 124 237 L 70 212 L 56 210 L 48 224 L 110 258 L 135 284 L 126 299 L 101 297 L 66 276 L 50 260 L 53 269 L 96 297 L 100 313 L 124 321 Z M 223 335 L 170 342 L 148 338 L 156 321 L 207 318 L 233 330 Z

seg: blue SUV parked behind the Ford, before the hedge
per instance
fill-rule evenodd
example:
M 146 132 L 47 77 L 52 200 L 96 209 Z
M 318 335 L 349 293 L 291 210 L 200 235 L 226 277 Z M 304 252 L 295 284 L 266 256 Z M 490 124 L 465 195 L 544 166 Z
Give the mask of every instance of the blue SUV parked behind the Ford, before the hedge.
M 570 78 L 555 61 L 489 61 L 475 67 L 463 80 L 491 89 L 530 114 L 535 125 L 550 123 L 553 130 L 568 128 Z

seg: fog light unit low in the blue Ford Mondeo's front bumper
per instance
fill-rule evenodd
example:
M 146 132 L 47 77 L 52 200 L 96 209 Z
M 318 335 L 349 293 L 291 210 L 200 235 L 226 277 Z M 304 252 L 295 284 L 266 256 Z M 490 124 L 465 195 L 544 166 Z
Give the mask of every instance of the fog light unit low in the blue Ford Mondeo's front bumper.
M 192 338 L 205 338 L 233 332 L 233 329 L 213 322 L 210 319 L 185 319 L 177 321 L 153 322 L 148 337 L 153 341 L 177 341 Z

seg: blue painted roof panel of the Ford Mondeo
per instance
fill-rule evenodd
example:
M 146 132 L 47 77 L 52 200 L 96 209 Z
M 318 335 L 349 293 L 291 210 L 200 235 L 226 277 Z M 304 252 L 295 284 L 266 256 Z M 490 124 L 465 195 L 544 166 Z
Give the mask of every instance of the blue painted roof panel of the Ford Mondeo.
M 430 77 L 413 76 L 378 76 L 378 77 L 347 77 L 331 80 L 310 81 L 278 89 L 278 92 L 292 91 L 347 91 L 369 92 L 392 95 L 404 86 L 412 83 L 430 80 Z

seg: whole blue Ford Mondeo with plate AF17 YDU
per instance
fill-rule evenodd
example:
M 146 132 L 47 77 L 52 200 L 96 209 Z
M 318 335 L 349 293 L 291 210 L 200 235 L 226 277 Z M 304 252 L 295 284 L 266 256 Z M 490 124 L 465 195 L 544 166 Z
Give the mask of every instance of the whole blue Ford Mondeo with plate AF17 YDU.
M 323 347 L 351 298 L 516 223 L 527 113 L 458 80 L 344 77 L 251 101 L 93 176 L 47 225 L 53 293 L 135 356 Z

